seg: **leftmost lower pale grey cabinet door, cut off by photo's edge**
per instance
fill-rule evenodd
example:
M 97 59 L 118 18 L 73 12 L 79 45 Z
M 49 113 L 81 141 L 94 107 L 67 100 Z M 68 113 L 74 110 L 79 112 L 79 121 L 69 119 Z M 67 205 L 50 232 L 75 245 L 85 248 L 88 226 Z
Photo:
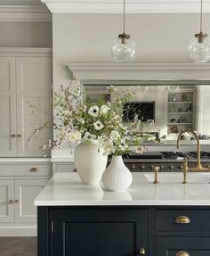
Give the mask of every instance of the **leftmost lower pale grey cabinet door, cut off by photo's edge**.
M 0 179 L 0 222 L 14 221 L 13 179 Z

